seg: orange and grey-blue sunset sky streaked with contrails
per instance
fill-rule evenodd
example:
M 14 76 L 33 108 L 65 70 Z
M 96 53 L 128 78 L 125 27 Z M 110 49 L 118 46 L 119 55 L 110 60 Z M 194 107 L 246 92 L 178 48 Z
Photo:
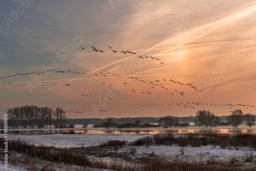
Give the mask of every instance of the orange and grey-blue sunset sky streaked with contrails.
M 256 114 L 255 1 L 3 0 L 0 15 L 1 116 Z

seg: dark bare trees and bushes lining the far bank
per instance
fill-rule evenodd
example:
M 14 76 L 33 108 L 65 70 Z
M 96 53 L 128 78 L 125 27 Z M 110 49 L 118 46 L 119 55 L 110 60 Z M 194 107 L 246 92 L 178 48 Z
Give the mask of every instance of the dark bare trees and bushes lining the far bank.
M 66 112 L 57 107 L 55 110 L 52 108 L 46 106 L 46 107 L 39 107 L 37 105 L 25 105 L 25 106 L 19 106 L 14 107 L 7 110 L 7 113 L 9 115 L 9 126 L 13 129 L 18 128 L 50 128 L 51 125 L 55 124 L 55 128 L 63 127 L 63 122 L 67 121 Z M 193 116 L 189 116 L 189 119 Z M 194 117 L 194 123 L 197 126 L 210 126 L 210 127 L 216 127 L 218 125 L 232 125 L 233 127 L 238 127 L 240 124 L 245 123 L 249 127 L 255 124 L 256 117 L 250 113 L 243 114 L 241 110 L 234 110 L 231 112 L 230 116 L 225 116 L 227 122 L 222 122 L 221 118 L 219 116 L 216 116 L 214 113 L 211 113 L 210 111 L 198 111 L 196 113 L 196 116 Z M 150 118 L 151 120 L 156 120 L 156 118 L 153 117 L 145 117 Z M 93 118 L 97 119 L 97 118 Z M 124 118 L 119 118 L 124 119 Z M 156 122 L 158 125 L 155 124 L 149 124 L 149 123 L 142 123 L 141 119 L 144 120 L 144 118 L 127 118 L 129 121 L 132 122 L 126 122 L 126 123 L 118 123 L 118 119 L 116 118 L 106 118 L 102 119 L 104 122 L 100 122 L 99 124 L 94 124 L 94 127 L 157 127 L 157 126 L 163 126 L 163 127 L 186 127 L 189 125 L 188 122 L 180 123 L 180 120 L 184 120 L 184 117 L 177 117 L 177 116 L 166 116 L 166 117 L 159 117 L 157 118 Z M 123 121 L 122 121 L 123 122 Z M 87 122 L 83 122 L 88 124 Z M 154 122 L 151 122 L 154 123 Z M 77 124 L 77 123 L 72 123 Z

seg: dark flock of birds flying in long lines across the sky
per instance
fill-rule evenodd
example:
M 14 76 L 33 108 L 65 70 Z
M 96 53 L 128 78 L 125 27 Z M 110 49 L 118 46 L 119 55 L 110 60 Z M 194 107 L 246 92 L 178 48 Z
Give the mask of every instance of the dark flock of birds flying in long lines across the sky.
M 117 50 L 113 50 L 112 47 L 113 46 L 107 46 L 111 51 L 110 52 L 113 52 L 113 53 L 122 53 L 122 54 L 132 54 L 132 55 L 137 55 L 138 58 L 141 58 L 141 59 L 154 59 L 154 60 L 159 60 L 159 61 L 162 61 L 161 59 L 159 58 L 156 58 L 156 57 L 152 57 L 152 56 L 146 56 L 146 55 L 142 55 L 142 56 L 139 56 L 137 53 L 135 52 L 132 52 L 132 51 L 117 51 Z M 87 47 L 81 47 L 82 50 L 85 50 Z M 92 49 L 93 52 L 99 52 L 99 53 L 105 53 L 104 51 L 102 50 L 99 50 L 95 47 L 91 47 L 90 48 Z M 163 64 L 163 62 L 160 62 L 159 64 Z M 26 75 L 31 75 L 31 74 L 44 74 L 44 73 L 69 73 L 69 74 L 83 74 L 83 75 L 86 75 L 87 73 L 83 73 L 83 72 L 77 72 L 77 71 L 72 71 L 71 69 L 70 70 L 55 70 L 55 69 L 52 69 L 52 70 L 44 70 L 44 71 L 33 71 L 33 72 L 27 72 L 27 73 L 17 73 L 17 74 L 14 74 L 14 75 L 8 75 L 8 76 L 5 76 L 5 77 L 1 77 L 1 79 L 6 79 L 6 78 L 10 78 L 10 77 L 16 77 L 16 76 L 26 76 Z M 99 72 L 99 73 L 95 73 L 94 74 L 94 77 L 117 77 L 117 78 L 123 78 L 123 79 L 127 79 L 127 78 L 132 78 L 132 80 L 136 80 L 136 81 L 140 81 L 140 82 L 143 82 L 145 84 L 147 84 L 148 86 L 151 87 L 152 90 L 156 89 L 156 88 L 160 88 L 161 90 L 164 90 L 165 91 L 165 94 L 167 95 L 175 95 L 175 94 L 178 94 L 180 95 L 181 97 L 185 95 L 184 91 L 178 91 L 178 90 L 174 90 L 174 91 L 169 91 L 169 89 L 171 89 L 170 87 L 166 87 L 166 83 L 171 81 L 172 83 L 174 84 L 178 84 L 179 86 L 186 86 L 186 87 L 189 87 L 191 89 L 194 89 L 198 92 L 201 92 L 203 90 L 193 86 L 194 83 L 182 83 L 182 82 L 179 82 L 177 80 L 174 80 L 174 79 L 167 79 L 167 78 L 159 78 L 159 79 L 156 79 L 156 80 L 143 80 L 143 79 L 139 79 L 138 77 L 135 77 L 135 76 L 130 76 L 130 75 L 126 75 L 126 76 L 123 76 L 123 75 L 118 75 L 118 74 L 114 74 L 112 72 Z M 8 83 L 1 83 L 0 85 L 4 85 L 4 84 L 11 84 L 12 82 L 8 82 Z M 131 84 L 130 82 L 128 81 L 123 81 L 123 85 L 124 86 L 128 86 L 129 84 Z M 165 84 L 165 85 L 164 85 Z M 113 82 L 101 82 L 101 85 L 105 85 L 105 86 L 112 86 L 113 85 Z M 64 86 L 66 87 L 69 87 L 71 86 L 70 84 L 64 84 Z M 169 85 L 170 86 L 170 85 Z M 124 90 L 124 92 L 131 92 L 132 94 L 147 94 L 147 95 L 152 95 L 154 92 L 152 91 L 137 91 L 135 88 L 129 88 L 127 90 Z M 83 97 L 97 97 L 98 94 L 94 93 L 94 94 L 82 94 L 81 96 Z M 103 100 L 102 98 L 99 99 L 99 100 Z M 108 100 L 112 100 L 111 98 L 109 98 Z M 183 102 L 180 102 L 180 103 L 169 103 L 168 105 L 181 105 L 181 106 L 184 106 L 185 109 L 187 108 L 195 108 L 196 105 L 215 105 L 215 106 L 244 106 L 246 108 L 254 108 L 254 106 L 252 105 L 248 105 L 248 104 L 214 104 L 214 103 L 200 103 L 200 102 L 186 102 L 186 103 L 183 103 Z M 141 104 L 141 106 L 163 106 L 164 104 L 157 104 L 157 103 L 152 103 L 152 104 Z M 231 109 L 231 108 L 230 108 Z M 3 110 L 2 110 L 3 111 Z M 4 110 L 5 111 L 5 110 Z M 101 112 L 106 112 L 106 111 L 103 111 L 103 110 L 100 110 Z M 1 112 L 1 111 L 0 111 Z M 70 109 L 69 111 L 66 111 L 68 113 L 84 113 L 84 112 L 93 112 L 93 111 L 85 111 L 85 110 L 73 110 L 73 109 Z

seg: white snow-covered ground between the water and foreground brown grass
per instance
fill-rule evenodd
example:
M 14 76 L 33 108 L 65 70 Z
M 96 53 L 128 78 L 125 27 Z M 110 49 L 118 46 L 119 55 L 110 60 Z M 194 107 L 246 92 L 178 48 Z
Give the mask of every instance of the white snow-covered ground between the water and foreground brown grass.
M 126 140 L 134 141 L 136 139 L 145 137 L 146 135 L 106 135 L 106 134 L 52 134 L 52 135 L 9 135 L 9 139 L 22 140 L 33 142 L 36 145 L 45 144 L 47 146 L 55 147 L 87 147 L 97 146 L 102 142 L 108 140 Z M 118 152 L 129 152 L 131 146 L 127 145 L 120 148 Z M 184 161 L 206 161 L 206 160 L 222 160 L 230 161 L 232 158 L 243 161 L 248 155 L 256 156 L 256 152 L 249 147 L 239 147 L 238 150 L 234 147 L 227 147 L 222 149 L 220 146 L 201 146 L 201 147 L 184 147 L 184 155 L 181 155 L 180 146 L 165 146 L 165 145 L 151 145 L 151 146 L 135 146 L 136 156 L 142 157 L 146 154 L 154 154 L 165 157 L 166 159 L 182 159 Z M 254 158 L 256 160 L 256 157 Z M 256 162 L 256 161 L 255 161 Z

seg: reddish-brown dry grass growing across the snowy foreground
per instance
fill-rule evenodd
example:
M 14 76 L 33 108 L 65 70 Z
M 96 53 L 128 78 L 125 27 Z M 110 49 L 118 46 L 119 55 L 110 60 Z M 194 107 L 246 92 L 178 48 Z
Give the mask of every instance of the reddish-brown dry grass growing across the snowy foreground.
M 200 138 L 200 137 L 197 137 Z M 182 139 L 181 137 L 175 138 L 175 137 L 161 137 L 157 135 L 154 137 L 154 141 L 156 143 L 165 143 L 165 142 L 180 142 L 181 144 L 187 144 L 187 139 L 197 139 L 193 137 L 192 135 L 189 135 L 188 137 L 184 137 Z M 223 138 L 223 137 L 222 137 Z M 250 137 L 251 138 L 251 137 Z M 152 140 L 152 139 L 151 139 Z M 182 141 L 181 141 L 182 140 Z M 229 139 L 227 139 L 229 140 Z M 152 140 L 153 141 L 153 140 Z M 3 139 L 0 139 L 0 147 L 3 148 Z M 143 139 L 143 142 L 150 142 L 150 139 Z M 197 142 L 197 141 L 195 141 Z M 205 139 L 202 139 L 202 142 L 208 142 L 205 141 Z M 199 143 L 197 142 L 197 143 Z M 210 143 L 209 141 L 208 143 Z M 241 142 L 249 142 L 245 140 L 241 140 Z M 112 144 L 108 143 L 108 144 Z M 189 144 L 189 143 L 188 143 Z M 141 171 L 151 171 L 151 170 L 157 170 L 157 171 L 168 171 L 168 170 L 191 170 L 191 171 L 198 171 L 198 170 L 256 170 L 256 166 L 251 167 L 244 167 L 243 165 L 236 165 L 237 161 L 236 159 L 230 159 L 230 162 L 222 162 L 215 160 L 214 157 L 209 158 L 207 161 L 194 161 L 194 162 L 186 162 L 180 159 L 177 159 L 176 161 L 167 161 L 164 157 L 160 157 L 157 155 L 151 155 L 148 154 L 145 157 L 135 158 L 132 159 L 130 157 L 130 153 L 117 153 L 117 152 L 110 152 L 111 149 L 114 149 L 115 146 L 97 146 L 97 147 L 81 147 L 81 148 L 55 148 L 55 147 L 47 147 L 44 145 L 35 146 L 32 143 L 23 142 L 23 141 L 9 141 L 9 151 L 15 151 L 18 153 L 26 154 L 26 156 L 29 156 L 30 158 L 39 158 L 40 160 L 44 160 L 46 162 L 39 164 L 40 169 L 42 169 L 49 161 L 50 165 L 53 163 L 59 163 L 59 164 L 69 164 L 69 165 L 76 165 L 76 166 L 82 166 L 82 167 L 91 167 L 91 168 L 104 168 L 104 169 L 112 169 L 112 170 L 123 170 L 123 171 L 132 171 L 132 170 L 141 170 Z M 98 152 L 102 154 L 110 154 L 109 157 L 115 157 L 115 158 L 122 158 L 125 159 L 125 162 L 120 159 L 98 159 L 94 157 L 88 157 L 86 154 L 93 153 L 92 151 Z M 111 155 L 112 154 L 112 155 Z M 3 155 L 3 154 L 0 154 Z M 126 156 L 122 157 L 122 156 Z M 127 159 L 127 160 L 126 160 Z M 17 159 L 16 159 L 17 160 Z M 251 160 L 250 155 L 246 155 L 244 160 Z M 11 159 L 10 159 L 11 161 Z M 28 159 L 27 161 L 22 161 L 23 163 L 31 164 L 31 159 Z M 15 161 L 11 161 L 15 163 Z M 19 161 L 20 162 L 20 161 Z M 33 164 L 37 165 L 37 163 Z M 33 166 L 36 167 L 36 166 Z M 38 168 L 30 168 L 31 170 L 40 170 Z M 49 170 L 49 169 L 46 169 Z M 52 169 L 55 170 L 55 169 Z

